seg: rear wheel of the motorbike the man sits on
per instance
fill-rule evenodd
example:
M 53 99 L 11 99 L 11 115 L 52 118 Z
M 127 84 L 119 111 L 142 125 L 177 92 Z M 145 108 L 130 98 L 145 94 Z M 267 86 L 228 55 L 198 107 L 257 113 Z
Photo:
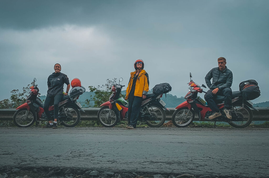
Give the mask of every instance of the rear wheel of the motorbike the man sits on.
M 246 105 L 244 107 L 242 104 L 233 105 L 231 113 L 232 120 L 230 120 L 228 123 L 235 128 L 245 128 L 252 122 L 252 111 Z

